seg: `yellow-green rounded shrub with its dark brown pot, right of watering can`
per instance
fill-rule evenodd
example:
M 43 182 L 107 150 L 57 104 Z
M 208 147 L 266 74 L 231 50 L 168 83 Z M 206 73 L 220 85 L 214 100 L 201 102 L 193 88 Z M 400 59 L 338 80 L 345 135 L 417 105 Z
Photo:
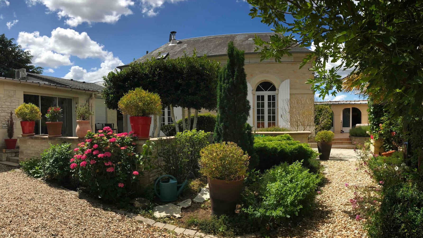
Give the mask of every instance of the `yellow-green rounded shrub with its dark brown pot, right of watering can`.
M 211 215 L 233 214 L 250 157 L 233 142 L 210 144 L 200 155 L 200 172 L 209 182 Z

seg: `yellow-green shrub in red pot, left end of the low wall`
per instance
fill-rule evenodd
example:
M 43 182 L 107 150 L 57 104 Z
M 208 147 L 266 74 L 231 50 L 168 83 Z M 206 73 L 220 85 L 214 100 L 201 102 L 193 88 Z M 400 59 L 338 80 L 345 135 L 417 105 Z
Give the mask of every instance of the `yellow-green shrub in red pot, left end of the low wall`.
M 22 136 L 33 136 L 35 120 L 41 119 L 40 108 L 32 103 L 23 103 L 15 109 L 17 118 L 21 120 Z

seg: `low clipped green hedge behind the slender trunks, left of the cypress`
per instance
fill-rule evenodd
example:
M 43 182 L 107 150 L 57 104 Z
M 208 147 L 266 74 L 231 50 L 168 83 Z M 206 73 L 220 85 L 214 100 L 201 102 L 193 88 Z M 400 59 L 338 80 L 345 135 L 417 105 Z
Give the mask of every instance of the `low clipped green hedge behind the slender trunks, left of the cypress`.
M 188 117 L 185 117 L 185 122 L 188 123 Z M 179 119 L 176 123 L 179 125 L 179 131 L 182 131 L 182 119 Z M 216 124 L 216 115 L 210 113 L 200 114 L 197 117 L 197 130 L 203 130 L 204 132 L 213 132 L 214 125 Z M 194 114 L 191 115 L 191 128 L 194 125 Z M 161 127 L 163 133 L 166 136 L 175 136 L 176 130 L 175 125 L 169 124 Z

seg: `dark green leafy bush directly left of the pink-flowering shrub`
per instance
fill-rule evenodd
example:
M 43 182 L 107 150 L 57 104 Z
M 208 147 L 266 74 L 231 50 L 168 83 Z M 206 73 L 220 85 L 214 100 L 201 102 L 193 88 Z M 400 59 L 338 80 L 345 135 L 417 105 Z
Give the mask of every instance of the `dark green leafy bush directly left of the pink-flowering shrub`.
M 61 182 L 65 177 L 69 177 L 69 165 L 72 158 L 70 145 L 69 143 L 50 144 L 50 148 L 44 150 L 40 161 L 44 178 Z

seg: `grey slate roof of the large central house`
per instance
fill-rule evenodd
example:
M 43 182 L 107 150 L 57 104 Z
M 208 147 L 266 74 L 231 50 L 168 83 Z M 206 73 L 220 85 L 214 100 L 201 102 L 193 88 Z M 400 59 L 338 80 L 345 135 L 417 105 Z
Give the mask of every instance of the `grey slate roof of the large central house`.
M 264 41 L 269 41 L 270 36 L 274 35 L 274 32 L 265 33 L 238 33 L 238 34 L 227 34 L 217 36 L 201 36 L 189 39 L 177 40 L 178 44 L 169 45 L 170 42 L 166 42 L 161 47 L 137 58 L 135 61 L 143 62 L 147 58 L 156 58 L 160 53 L 169 53 L 169 58 L 178 58 L 184 55 L 184 51 L 187 55 L 192 55 L 192 50 L 197 50 L 197 55 L 202 56 L 204 54 L 208 56 L 223 56 L 226 55 L 228 50 L 228 43 L 233 41 L 235 47 L 240 50 L 244 50 L 245 54 L 257 54 L 254 52 L 254 36 L 257 35 Z M 311 50 L 304 47 L 291 47 L 291 53 L 310 53 Z M 124 68 L 129 66 L 125 64 L 118 66 L 117 68 Z

